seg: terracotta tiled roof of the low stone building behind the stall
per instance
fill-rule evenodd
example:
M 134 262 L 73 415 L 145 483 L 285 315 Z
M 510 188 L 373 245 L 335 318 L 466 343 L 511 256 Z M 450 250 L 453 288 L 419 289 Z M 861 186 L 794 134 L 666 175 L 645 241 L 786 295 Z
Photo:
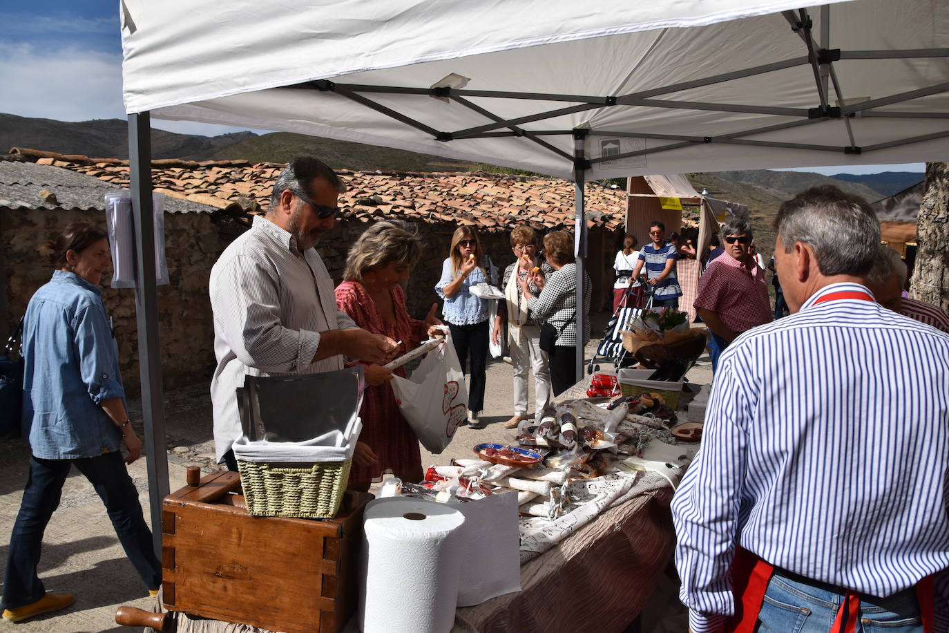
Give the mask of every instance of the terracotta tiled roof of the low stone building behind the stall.
M 63 157 L 31 150 L 23 156 L 97 177 L 111 187 L 128 186 L 128 161 Z M 44 158 L 40 156 L 45 155 Z M 169 197 L 219 209 L 266 209 L 274 178 L 282 164 L 247 161 L 155 160 L 155 191 Z M 338 172 L 347 191 L 340 206 L 363 219 L 400 217 L 446 221 L 506 231 L 528 222 L 535 228 L 573 225 L 573 183 L 560 178 L 500 176 L 484 172 L 415 174 L 406 172 Z M 243 199 L 242 199 L 243 198 Z M 597 183 L 586 186 L 588 226 L 619 229 L 625 221 L 626 195 Z

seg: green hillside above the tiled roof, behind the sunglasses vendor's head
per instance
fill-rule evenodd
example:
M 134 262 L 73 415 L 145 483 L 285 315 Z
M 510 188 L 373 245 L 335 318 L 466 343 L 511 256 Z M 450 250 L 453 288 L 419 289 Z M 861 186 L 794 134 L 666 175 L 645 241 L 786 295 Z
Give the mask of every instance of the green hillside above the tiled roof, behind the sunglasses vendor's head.
M 362 171 L 392 169 L 402 172 L 466 172 L 474 164 L 465 160 L 290 132 L 272 132 L 239 140 L 221 146 L 202 158 L 289 162 L 293 157 L 303 154 L 318 156 L 334 169 Z

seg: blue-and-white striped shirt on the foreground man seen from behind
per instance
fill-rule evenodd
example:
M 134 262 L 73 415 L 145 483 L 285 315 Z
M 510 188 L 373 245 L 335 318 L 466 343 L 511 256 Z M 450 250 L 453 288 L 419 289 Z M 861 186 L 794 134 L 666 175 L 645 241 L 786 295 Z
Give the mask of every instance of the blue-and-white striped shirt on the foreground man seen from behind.
M 872 301 L 818 299 L 718 362 L 672 503 L 695 633 L 735 611 L 735 546 L 812 580 L 888 596 L 949 568 L 949 335 Z M 904 350 L 914 350 L 905 363 Z M 947 574 L 937 605 L 949 604 Z

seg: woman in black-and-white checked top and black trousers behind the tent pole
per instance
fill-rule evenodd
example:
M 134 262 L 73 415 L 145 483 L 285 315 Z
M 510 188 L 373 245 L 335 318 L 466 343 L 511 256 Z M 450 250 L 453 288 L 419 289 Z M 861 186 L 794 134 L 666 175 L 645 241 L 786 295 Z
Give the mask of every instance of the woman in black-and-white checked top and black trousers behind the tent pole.
M 519 280 L 530 312 L 553 328 L 556 343 L 549 351 L 550 382 L 554 396 L 559 396 L 580 380 L 577 375 L 577 265 L 573 256 L 573 236 L 567 231 L 554 231 L 544 236 L 544 254 L 553 272 L 546 278 L 534 272 L 529 279 Z M 533 284 L 540 288 L 535 294 Z M 584 271 L 583 343 L 590 339 L 591 283 Z M 583 359 L 579 359 L 581 362 Z

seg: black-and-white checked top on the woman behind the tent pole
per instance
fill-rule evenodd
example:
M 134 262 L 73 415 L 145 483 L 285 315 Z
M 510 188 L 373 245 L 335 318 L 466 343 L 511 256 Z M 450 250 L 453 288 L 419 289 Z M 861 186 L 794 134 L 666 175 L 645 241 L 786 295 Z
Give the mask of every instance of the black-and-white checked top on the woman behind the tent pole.
M 584 270 L 584 344 L 590 340 L 590 276 Z M 528 299 L 530 314 L 538 321 L 554 326 L 560 335 L 558 347 L 577 344 L 577 265 L 568 264 L 547 276 L 544 289 Z

